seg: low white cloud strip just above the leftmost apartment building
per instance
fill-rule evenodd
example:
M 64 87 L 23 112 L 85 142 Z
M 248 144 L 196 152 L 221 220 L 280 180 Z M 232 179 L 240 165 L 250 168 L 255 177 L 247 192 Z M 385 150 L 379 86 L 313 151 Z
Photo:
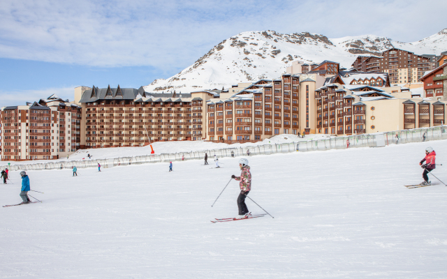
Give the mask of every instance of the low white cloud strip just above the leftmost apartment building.
M 52 96 L 52 94 L 56 94 L 64 100 L 72 101 L 75 94 L 75 86 L 40 90 L 0 91 L 1 106 L 26 105 L 27 102 L 38 102 L 38 100 Z

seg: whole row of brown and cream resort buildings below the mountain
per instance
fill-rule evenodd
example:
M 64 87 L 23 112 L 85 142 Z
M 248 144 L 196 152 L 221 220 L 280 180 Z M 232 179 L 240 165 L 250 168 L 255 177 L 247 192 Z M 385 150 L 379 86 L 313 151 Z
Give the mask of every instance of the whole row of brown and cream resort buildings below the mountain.
M 280 134 L 439 126 L 446 121 L 444 59 L 393 48 L 358 56 L 350 70 L 334 61 L 293 61 L 276 79 L 178 94 L 79 86 L 73 102 L 53 95 L 2 107 L 1 160 L 57 159 L 78 149 L 159 141 L 257 142 Z M 402 85 L 419 81 L 420 90 Z

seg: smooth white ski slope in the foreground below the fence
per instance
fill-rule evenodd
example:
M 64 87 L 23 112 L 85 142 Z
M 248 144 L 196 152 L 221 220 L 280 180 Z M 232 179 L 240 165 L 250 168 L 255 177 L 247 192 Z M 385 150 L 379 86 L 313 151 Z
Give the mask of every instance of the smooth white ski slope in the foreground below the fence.
M 238 158 L 29 171 L 43 203 L 0 208 L 0 278 L 447 278 L 447 187 L 404 187 L 429 145 L 447 165 L 446 140 L 250 157 L 274 219 L 215 224 L 237 214 L 237 181 L 211 204 Z M 10 179 L 2 205 L 20 202 Z

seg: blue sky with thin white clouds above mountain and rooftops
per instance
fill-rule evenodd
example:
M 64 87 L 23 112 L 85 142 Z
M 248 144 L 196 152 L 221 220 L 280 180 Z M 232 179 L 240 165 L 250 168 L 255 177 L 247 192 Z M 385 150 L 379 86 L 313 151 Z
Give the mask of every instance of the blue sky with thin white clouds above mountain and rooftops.
M 0 106 L 73 99 L 80 85 L 138 88 L 244 31 L 413 42 L 447 27 L 433 16 L 446 2 L 2 0 Z

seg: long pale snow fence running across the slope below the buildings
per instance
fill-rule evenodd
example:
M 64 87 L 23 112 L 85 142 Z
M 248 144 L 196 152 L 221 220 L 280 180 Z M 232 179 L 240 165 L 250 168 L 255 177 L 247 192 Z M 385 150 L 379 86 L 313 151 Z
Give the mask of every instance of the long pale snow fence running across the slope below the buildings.
M 378 142 L 385 141 L 389 144 L 406 144 L 409 142 L 427 142 L 430 140 L 447 140 L 447 126 L 437 126 L 430 128 L 417 128 L 411 130 L 398 130 L 386 133 L 350 135 L 342 137 L 328 137 L 321 140 L 303 140 L 300 142 L 289 142 L 284 144 L 262 144 L 256 146 L 229 147 L 226 149 L 210 149 L 203 151 L 177 152 L 151 154 L 134 157 L 120 157 L 110 159 L 89 159 L 81 161 L 63 161 L 50 163 L 30 163 L 23 165 L 1 165 L 0 169 L 10 170 L 42 170 L 42 169 L 84 169 L 87 167 L 115 167 L 122 165 L 140 165 L 147 163 L 163 163 L 181 160 L 203 160 L 205 153 L 209 160 L 217 158 L 270 155 L 275 153 L 323 151 L 330 149 L 349 149 L 356 147 L 377 147 Z M 381 146 L 381 145 L 379 145 Z

